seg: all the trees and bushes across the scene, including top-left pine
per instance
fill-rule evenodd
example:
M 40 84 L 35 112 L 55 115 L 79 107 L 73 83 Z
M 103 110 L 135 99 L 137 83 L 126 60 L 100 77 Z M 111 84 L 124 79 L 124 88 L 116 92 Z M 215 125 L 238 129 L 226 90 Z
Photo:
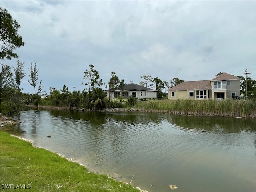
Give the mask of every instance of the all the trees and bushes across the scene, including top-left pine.
M 61 106 L 67 108 L 86 108 L 86 109 L 102 109 L 121 107 L 122 96 L 118 95 L 120 102 L 111 101 L 106 97 L 106 94 L 102 90 L 101 86 L 108 88 L 109 92 L 115 92 L 118 88 L 121 92 L 126 92 L 124 89 L 125 82 L 123 79 L 119 79 L 115 72 L 111 72 L 110 80 L 107 84 L 102 83 L 100 75 L 97 70 L 94 69 L 94 65 L 89 65 L 89 69 L 84 72 L 82 82 L 85 88 L 82 91 L 70 92 L 66 85 L 62 89 L 57 90 L 54 87 L 49 88 L 50 97 L 42 100 L 38 94 L 45 92 L 42 80 L 39 80 L 37 62 L 30 65 L 28 83 L 33 86 L 34 94 L 22 93 L 22 79 L 26 76 L 24 73 L 24 62 L 17 60 L 16 66 L 12 66 L 14 73 L 11 72 L 11 67 L 7 64 L 3 64 L 4 59 L 11 60 L 12 58 L 18 59 L 18 54 L 14 53 L 16 48 L 24 46 L 22 37 L 18 34 L 20 25 L 6 9 L 0 8 L 0 48 L 1 48 L 1 73 L 0 73 L 0 97 L 1 97 L 1 113 L 6 115 L 12 115 L 18 112 L 24 104 L 36 104 L 36 105 L 51 105 Z M 221 74 L 221 73 L 219 73 Z M 217 74 L 217 75 L 219 75 Z M 246 80 L 242 76 L 241 78 L 241 93 L 244 94 Z M 150 87 L 157 90 L 157 97 L 162 98 L 166 96 L 166 89 L 176 86 L 184 80 L 173 78 L 170 82 L 162 81 L 160 78 L 153 78 L 151 75 L 144 74 L 140 76 L 143 80 L 139 82 L 141 86 Z M 164 90 L 164 92 L 162 91 Z M 247 90 L 248 94 L 256 92 L 256 81 L 247 78 Z M 130 96 L 126 102 L 126 105 L 133 106 L 136 98 Z

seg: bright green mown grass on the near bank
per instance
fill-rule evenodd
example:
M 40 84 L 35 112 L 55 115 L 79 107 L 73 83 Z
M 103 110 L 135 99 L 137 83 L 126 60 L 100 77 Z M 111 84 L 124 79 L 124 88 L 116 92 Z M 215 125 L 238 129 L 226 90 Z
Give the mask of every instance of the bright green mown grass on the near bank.
M 89 172 L 84 166 L 69 162 L 43 148 L 34 148 L 30 142 L 0 132 L 0 187 L 2 191 L 33 192 L 138 192 L 131 185 L 124 184 L 106 174 Z M 23 189 L 6 189 L 14 184 Z

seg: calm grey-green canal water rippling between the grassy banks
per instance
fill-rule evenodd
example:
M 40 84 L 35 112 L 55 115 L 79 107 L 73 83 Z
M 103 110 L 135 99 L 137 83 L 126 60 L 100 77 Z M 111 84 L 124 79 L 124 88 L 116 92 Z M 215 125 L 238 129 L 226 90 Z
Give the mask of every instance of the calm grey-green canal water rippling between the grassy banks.
M 128 183 L 134 174 L 150 192 L 256 191 L 256 120 L 32 109 L 19 118 L 2 129 L 94 172 Z

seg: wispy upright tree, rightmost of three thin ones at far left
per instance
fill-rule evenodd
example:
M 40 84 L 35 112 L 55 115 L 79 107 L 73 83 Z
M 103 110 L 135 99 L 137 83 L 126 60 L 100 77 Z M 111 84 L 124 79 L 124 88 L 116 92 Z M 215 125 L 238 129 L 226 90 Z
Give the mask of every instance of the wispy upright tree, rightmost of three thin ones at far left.
M 31 63 L 30 68 L 28 68 L 28 70 L 30 72 L 30 74 L 29 74 L 30 80 L 28 79 L 28 83 L 31 86 L 34 87 L 34 91 L 35 91 L 34 94 L 35 95 L 37 95 L 38 93 L 43 92 L 43 88 L 44 88 L 44 86 L 41 85 L 42 80 L 40 80 L 38 90 L 36 92 L 36 85 L 38 84 L 38 70 L 39 70 L 39 69 L 36 68 L 36 63 L 37 63 L 37 61 L 35 61 L 34 67 L 32 67 L 32 63 Z

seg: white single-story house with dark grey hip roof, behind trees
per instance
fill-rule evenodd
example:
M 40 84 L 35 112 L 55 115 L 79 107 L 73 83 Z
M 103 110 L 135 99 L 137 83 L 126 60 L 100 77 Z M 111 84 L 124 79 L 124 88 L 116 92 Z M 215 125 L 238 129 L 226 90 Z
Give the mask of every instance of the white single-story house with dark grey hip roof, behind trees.
M 117 98 L 118 95 L 122 95 L 123 98 L 129 98 L 134 96 L 135 98 L 156 98 L 157 90 L 150 89 L 141 85 L 134 83 L 126 84 L 124 86 L 124 91 L 121 92 L 120 87 L 115 91 L 105 90 L 106 95 L 110 98 Z

